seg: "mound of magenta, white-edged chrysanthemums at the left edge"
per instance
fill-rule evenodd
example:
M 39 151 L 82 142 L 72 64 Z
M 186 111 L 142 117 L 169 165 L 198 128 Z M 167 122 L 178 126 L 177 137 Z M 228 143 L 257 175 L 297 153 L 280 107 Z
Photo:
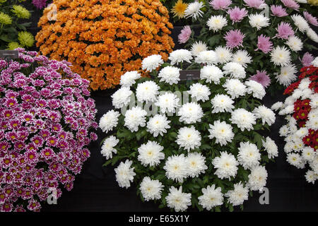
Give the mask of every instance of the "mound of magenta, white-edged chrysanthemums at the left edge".
M 0 59 L 0 210 L 39 211 L 73 188 L 98 124 L 89 82 L 69 62 L 18 52 Z

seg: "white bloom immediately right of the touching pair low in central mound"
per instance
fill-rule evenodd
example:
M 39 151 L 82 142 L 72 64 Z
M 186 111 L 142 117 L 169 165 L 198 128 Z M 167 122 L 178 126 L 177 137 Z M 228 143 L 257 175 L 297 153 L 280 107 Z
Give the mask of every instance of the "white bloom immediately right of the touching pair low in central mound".
M 237 174 L 238 162 L 232 154 L 223 151 L 220 153 L 220 157 L 215 157 L 212 160 L 212 164 L 216 168 L 216 176 L 220 179 L 230 179 L 230 177 L 235 177 Z

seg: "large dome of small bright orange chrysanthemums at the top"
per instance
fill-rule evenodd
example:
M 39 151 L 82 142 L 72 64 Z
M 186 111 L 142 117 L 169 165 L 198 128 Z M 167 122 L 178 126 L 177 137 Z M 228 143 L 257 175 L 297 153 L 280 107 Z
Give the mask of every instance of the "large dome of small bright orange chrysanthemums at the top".
M 36 35 L 40 52 L 66 59 L 93 90 L 118 85 L 126 71 L 140 68 L 151 54 L 167 59 L 174 43 L 167 8 L 159 0 L 53 1 L 57 20 L 46 8 Z

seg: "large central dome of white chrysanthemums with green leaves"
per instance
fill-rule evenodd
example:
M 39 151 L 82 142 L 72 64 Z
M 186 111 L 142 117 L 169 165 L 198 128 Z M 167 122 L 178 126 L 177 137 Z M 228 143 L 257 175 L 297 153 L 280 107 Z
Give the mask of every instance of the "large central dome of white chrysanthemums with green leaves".
M 151 78 L 138 71 L 122 76 L 112 95 L 115 110 L 100 119 L 108 135 L 101 150 L 105 166 L 121 161 L 115 169 L 119 186 L 134 182 L 141 200 L 157 201 L 160 208 L 243 208 L 249 191 L 266 185 L 264 165 L 278 155 L 274 141 L 260 134 L 276 120 L 261 105 L 265 90 L 242 81 L 247 73 L 240 64 L 216 66 L 213 51 L 192 56 L 178 49 L 169 59 L 143 59 Z M 201 65 L 200 80 L 180 81 L 182 64 L 193 61 Z

